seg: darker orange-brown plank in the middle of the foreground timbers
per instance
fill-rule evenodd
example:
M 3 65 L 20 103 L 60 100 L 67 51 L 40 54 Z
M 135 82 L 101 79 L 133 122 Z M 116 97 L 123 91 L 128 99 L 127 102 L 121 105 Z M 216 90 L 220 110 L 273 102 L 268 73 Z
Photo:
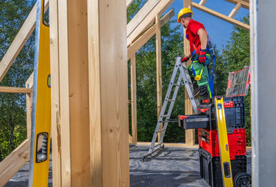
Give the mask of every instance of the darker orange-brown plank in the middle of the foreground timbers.
M 90 124 L 87 3 L 87 0 L 67 1 L 68 65 L 66 65 L 66 68 L 68 67 L 69 88 L 66 94 L 69 99 L 69 111 L 67 109 L 66 111 L 69 112 L 67 117 L 70 120 L 70 124 L 68 124 L 70 126 L 70 140 L 68 142 L 70 142 L 72 186 L 92 186 L 89 162 Z M 126 8 L 126 1 L 124 1 L 124 7 Z M 60 33 L 59 37 L 61 35 Z M 61 41 L 59 41 L 60 47 Z M 63 68 L 60 66 L 59 70 L 63 71 Z M 62 84 L 61 79 L 60 84 Z M 62 123 L 61 126 L 63 126 Z M 63 145 L 61 145 L 61 149 L 63 149 Z M 61 152 L 61 158 L 63 160 L 63 152 Z

